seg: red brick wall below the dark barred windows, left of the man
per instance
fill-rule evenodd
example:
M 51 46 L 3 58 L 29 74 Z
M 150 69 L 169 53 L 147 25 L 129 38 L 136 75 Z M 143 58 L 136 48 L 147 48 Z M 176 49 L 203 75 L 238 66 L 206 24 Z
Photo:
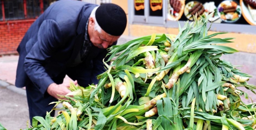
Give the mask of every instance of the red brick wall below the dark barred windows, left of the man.
M 17 54 L 23 36 L 34 20 L 18 20 L 0 23 L 0 55 Z

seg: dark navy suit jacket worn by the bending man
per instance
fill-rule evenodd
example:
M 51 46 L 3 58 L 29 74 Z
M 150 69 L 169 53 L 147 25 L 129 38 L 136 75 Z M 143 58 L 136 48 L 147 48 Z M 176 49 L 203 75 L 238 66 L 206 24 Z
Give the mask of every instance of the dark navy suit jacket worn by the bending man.
M 17 51 L 19 62 L 15 85 L 24 87 L 29 80 L 44 94 L 58 76 L 74 62 L 84 42 L 85 26 L 95 4 L 60 0 L 48 7 L 31 25 Z M 106 49 L 93 46 L 83 62 L 87 74 L 105 71 L 102 59 Z M 83 71 L 84 72 L 84 71 Z M 87 72 L 87 71 L 86 71 Z

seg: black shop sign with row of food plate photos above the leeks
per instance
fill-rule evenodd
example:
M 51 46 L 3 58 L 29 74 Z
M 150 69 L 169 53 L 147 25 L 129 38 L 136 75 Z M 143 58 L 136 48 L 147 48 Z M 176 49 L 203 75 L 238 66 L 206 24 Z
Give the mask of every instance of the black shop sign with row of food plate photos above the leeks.
M 256 25 L 256 0 L 167 0 L 166 13 L 170 21 L 194 21 L 193 15 L 207 13 L 212 23 Z

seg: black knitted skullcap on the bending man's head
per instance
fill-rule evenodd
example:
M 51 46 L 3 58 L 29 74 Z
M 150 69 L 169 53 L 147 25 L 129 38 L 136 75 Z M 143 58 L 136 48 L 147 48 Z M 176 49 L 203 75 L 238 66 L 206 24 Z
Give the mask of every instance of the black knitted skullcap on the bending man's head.
M 126 28 L 126 14 L 116 4 L 102 4 L 96 10 L 95 17 L 101 29 L 110 35 L 121 36 Z

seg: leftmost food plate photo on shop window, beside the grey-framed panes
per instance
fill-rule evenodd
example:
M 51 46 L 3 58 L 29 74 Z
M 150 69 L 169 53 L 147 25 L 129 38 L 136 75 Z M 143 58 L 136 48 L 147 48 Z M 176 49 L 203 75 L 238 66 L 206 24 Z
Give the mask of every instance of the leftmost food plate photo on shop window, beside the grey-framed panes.
M 184 12 L 185 0 L 168 0 L 168 16 L 172 21 L 179 20 Z

